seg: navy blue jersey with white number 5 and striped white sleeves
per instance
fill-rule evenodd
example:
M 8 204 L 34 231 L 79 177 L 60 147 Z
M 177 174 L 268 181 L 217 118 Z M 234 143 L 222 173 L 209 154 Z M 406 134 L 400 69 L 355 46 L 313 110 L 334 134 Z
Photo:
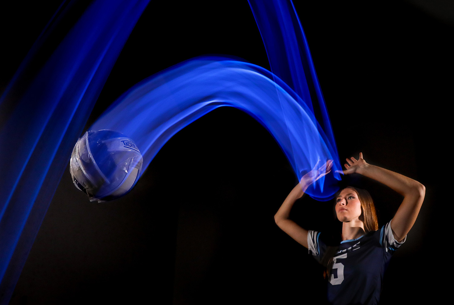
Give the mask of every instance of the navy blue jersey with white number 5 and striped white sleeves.
M 332 304 L 377 304 L 391 255 L 405 242 L 394 239 L 391 222 L 354 240 L 344 240 L 333 257 L 328 300 Z M 310 230 L 309 253 L 320 260 L 326 251 L 323 234 Z

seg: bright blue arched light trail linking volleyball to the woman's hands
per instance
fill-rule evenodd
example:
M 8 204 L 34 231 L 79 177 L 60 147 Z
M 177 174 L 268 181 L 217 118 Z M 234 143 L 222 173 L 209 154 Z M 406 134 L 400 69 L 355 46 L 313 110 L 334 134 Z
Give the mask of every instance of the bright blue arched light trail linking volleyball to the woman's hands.
M 146 168 L 174 134 L 222 106 L 240 109 L 260 122 L 299 179 L 317 160 L 337 157 L 311 110 L 284 82 L 257 65 L 222 58 L 188 60 L 144 80 L 90 129 L 115 130 L 134 139 Z M 326 200 L 336 190 L 323 190 L 321 182 L 307 193 Z

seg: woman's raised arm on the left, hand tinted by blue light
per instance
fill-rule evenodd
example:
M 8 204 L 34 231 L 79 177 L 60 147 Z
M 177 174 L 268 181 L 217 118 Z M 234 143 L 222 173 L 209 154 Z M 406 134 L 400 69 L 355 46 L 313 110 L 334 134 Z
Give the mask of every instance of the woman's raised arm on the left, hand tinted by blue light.
M 320 160 L 319 160 L 320 161 Z M 331 165 L 333 164 L 332 160 L 328 160 L 326 164 L 322 165 L 320 168 L 317 169 L 318 163 L 315 167 L 304 175 L 301 178 L 301 181 L 298 185 L 296 185 L 293 190 L 291 190 L 290 194 L 288 194 L 287 198 L 282 203 L 279 210 L 277 210 L 276 215 L 274 215 L 274 221 L 276 221 L 276 225 L 279 226 L 284 232 L 290 235 L 291 238 L 296 240 L 301 245 L 308 247 L 307 245 L 307 230 L 301 228 L 299 225 L 296 224 L 293 220 L 289 219 L 290 210 L 293 207 L 295 201 L 304 195 L 309 185 L 314 183 L 315 181 L 319 180 L 324 175 L 328 174 L 331 171 Z

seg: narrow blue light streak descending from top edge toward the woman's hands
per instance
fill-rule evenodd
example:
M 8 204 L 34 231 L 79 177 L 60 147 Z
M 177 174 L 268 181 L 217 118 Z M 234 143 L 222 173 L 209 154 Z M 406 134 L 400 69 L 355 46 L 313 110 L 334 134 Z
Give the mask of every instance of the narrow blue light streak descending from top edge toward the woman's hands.
M 262 35 L 271 72 L 301 97 L 301 101 L 319 122 L 319 130 L 325 133 L 333 151 L 337 151 L 311 52 L 293 3 L 262 0 L 248 2 Z

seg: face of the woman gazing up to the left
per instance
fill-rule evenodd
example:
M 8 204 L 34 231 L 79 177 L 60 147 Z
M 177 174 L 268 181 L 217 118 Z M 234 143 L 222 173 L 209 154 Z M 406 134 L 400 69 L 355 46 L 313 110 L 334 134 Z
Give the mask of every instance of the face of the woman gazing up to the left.
M 336 215 L 342 222 L 359 220 L 361 202 L 353 189 L 343 189 L 336 197 Z

